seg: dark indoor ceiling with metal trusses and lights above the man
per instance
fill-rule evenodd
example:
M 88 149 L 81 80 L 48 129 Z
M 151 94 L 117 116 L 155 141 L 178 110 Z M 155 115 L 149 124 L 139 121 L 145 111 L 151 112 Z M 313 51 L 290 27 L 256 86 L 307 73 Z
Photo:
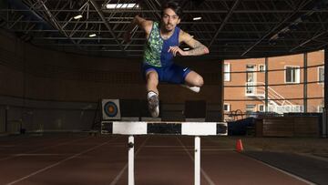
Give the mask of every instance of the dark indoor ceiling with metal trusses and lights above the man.
M 123 42 L 123 33 L 135 15 L 159 20 L 162 3 L 1 0 L 0 26 L 35 46 L 92 56 L 142 57 L 143 32 L 135 29 L 128 44 Z M 179 3 L 184 10 L 179 26 L 208 46 L 211 58 L 280 56 L 328 46 L 328 0 Z M 193 20 L 196 17 L 199 20 Z

